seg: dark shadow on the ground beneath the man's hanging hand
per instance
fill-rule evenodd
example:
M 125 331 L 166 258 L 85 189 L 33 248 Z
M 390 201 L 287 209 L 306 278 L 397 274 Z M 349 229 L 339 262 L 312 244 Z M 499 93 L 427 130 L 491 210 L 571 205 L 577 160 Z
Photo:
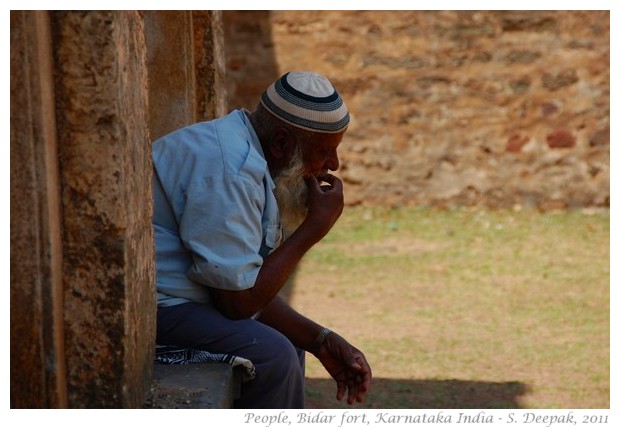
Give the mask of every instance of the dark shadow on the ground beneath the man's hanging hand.
M 398 380 L 374 378 L 363 404 L 354 408 L 516 409 L 527 385 L 516 381 Z M 336 401 L 336 384 L 328 379 L 306 380 L 306 408 L 349 408 Z

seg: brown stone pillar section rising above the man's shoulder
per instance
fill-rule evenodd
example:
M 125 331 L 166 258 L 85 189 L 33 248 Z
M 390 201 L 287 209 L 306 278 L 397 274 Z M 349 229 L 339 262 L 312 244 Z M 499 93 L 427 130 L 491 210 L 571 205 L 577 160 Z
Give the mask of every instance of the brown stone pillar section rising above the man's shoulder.
M 226 113 L 219 11 L 146 11 L 149 127 L 153 140 Z

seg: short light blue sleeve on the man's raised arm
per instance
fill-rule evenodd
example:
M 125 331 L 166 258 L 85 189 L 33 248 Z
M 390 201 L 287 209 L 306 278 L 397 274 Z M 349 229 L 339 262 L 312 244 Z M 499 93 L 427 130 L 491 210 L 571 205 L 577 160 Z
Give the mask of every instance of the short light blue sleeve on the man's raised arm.
M 234 174 L 204 178 L 186 192 L 179 232 L 193 255 L 187 276 L 218 289 L 253 287 L 263 263 L 264 186 Z

